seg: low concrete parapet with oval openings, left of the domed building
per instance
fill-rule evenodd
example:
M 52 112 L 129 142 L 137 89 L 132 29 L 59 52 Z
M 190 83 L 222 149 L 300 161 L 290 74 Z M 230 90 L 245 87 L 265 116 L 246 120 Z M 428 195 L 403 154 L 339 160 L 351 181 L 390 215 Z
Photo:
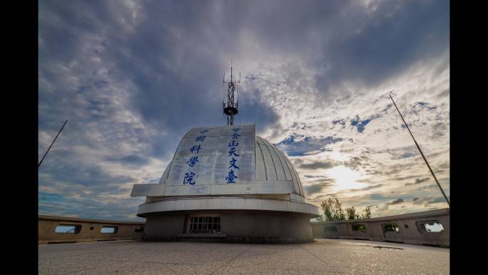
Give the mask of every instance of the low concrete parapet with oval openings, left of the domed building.
M 60 224 L 81 226 L 81 228 L 76 234 L 56 233 L 56 227 Z M 103 226 L 116 226 L 118 230 L 114 234 L 101 233 Z M 39 244 L 142 239 L 143 232 L 136 232 L 138 226 L 145 226 L 145 223 L 39 215 L 38 238 Z

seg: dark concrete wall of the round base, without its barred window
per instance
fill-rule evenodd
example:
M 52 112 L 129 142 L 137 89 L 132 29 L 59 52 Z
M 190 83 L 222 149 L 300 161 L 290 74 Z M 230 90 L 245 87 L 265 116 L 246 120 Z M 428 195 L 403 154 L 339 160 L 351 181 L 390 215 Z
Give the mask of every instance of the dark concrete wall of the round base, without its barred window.
M 312 241 L 310 215 L 278 211 L 172 211 L 148 214 L 144 240 L 180 241 L 188 214 L 217 214 L 225 237 L 215 241 L 230 243 L 298 243 Z M 200 234 L 202 237 L 207 234 Z M 210 234 L 211 237 L 213 234 Z

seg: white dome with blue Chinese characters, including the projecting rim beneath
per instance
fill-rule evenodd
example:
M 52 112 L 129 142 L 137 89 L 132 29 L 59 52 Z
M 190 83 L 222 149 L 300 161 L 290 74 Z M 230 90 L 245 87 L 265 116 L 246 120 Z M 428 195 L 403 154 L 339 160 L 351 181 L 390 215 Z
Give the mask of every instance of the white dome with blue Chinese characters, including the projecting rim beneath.
M 135 184 L 131 196 L 147 197 L 139 216 L 205 209 L 319 213 L 305 203 L 293 164 L 255 135 L 255 125 L 190 129 L 159 184 Z

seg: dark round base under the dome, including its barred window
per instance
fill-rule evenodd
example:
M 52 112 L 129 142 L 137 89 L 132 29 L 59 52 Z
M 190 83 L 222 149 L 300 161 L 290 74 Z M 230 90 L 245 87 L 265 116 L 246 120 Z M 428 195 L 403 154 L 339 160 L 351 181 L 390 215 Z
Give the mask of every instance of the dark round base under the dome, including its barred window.
M 220 241 L 261 244 L 313 241 L 310 225 L 313 215 L 310 214 L 259 210 L 205 210 L 164 211 L 145 214 L 145 216 L 147 220 L 143 240 L 146 241 Z M 206 226 L 200 226 L 201 221 L 206 221 Z M 213 233 L 205 233 L 202 230 L 205 227 L 217 230 L 207 230 Z

